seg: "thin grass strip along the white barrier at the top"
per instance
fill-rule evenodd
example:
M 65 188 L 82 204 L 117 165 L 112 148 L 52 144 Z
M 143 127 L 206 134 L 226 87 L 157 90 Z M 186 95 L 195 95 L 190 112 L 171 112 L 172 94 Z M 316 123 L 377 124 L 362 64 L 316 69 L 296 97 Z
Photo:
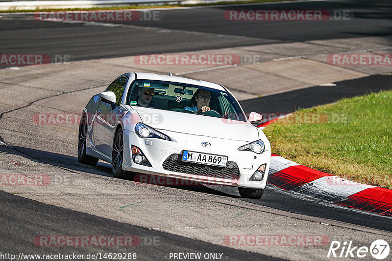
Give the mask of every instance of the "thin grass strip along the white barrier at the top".
M 192 7 L 192 6 L 214 6 L 222 4 L 244 4 L 244 3 L 265 3 L 265 2 L 281 2 L 294 0 L 238 0 L 238 1 L 220 1 L 215 3 L 196 3 L 196 4 L 134 4 L 124 6 L 104 6 L 91 8 L 36 8 L 29 10 L 0 10 L 0 13 L 23 13 L 23 12 L 51 12 L 51 11 L 94 11 L 94 10 L 128 10 L 128 9 L 149 9 L 149 8 L 170 8 L 170 7 Z M 180 2 L 180 1 L 178 1 Z

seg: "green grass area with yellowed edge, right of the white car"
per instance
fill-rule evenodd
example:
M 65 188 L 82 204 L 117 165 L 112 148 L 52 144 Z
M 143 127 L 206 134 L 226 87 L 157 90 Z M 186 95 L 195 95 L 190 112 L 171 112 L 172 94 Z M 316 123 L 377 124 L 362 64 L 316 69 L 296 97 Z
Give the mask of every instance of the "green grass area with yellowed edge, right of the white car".
M 300 109 L 264 130 L 272 152 L 360 183 L 392 188 L 392 91 Z

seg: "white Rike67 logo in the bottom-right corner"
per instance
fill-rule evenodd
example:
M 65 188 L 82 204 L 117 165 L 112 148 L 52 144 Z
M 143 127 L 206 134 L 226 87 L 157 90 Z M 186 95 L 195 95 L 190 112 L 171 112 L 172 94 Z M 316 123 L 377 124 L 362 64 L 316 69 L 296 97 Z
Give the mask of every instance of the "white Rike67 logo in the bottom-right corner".
M 352 241 L 332 241 L 328 250 L 327 258 L 358 258 L 368 257 L 370 254 L 377 260 L 383 260 L 388 257 L 390 252 L 390 246 L 387 241 L 383 239 L 377 239 L 371 243 L 370 247 L 367 246 L 355 246 Z

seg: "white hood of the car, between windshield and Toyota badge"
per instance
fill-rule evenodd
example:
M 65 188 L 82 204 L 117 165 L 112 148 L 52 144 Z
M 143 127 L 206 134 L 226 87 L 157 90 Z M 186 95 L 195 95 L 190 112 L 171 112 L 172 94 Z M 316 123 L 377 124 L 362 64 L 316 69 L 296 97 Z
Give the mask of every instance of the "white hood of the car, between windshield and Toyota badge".
M 259 139 L 257 128 L 248 122 L 161 109 L 132 108 L 139 113 L 144 124 L 156 130 L 247 142 Z

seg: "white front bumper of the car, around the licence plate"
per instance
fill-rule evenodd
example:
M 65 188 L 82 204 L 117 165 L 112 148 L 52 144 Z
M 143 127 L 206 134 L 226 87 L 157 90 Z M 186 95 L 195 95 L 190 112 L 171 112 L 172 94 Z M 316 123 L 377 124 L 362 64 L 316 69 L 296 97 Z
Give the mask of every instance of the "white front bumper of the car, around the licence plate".
M 261 154 L 239 151 L 238 148 L 249 142 L 190 135 L 174 131 L 159 131 L 168 135 L 172 141 L 158 138 L 141 138 L 133 131 L 124 130 L 123 170 L 207 182 L 208 184 L 254 189 L 265 188 L 270 169 L 270 150 Z M 211 147 L 203 147 L 202 142 L 210 143 Z M 143 152 L 152 167 L 134 162 L 132 145 Z M 183 150 L 228 156 L 227 166 L 222 168 L 197 163 L 184 163 L 181 161 Z M 262 164 L 267 164 L 264 178 L 250 181 L 249 178 Z

